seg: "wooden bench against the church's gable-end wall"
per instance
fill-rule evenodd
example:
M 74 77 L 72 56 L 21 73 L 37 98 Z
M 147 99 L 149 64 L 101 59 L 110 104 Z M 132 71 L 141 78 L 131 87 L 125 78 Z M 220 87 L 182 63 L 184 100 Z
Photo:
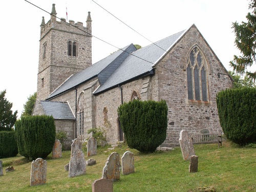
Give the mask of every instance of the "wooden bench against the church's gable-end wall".
M 194 144 L 207 144 L 207 143 L 218 143 L 218 146 L 222 147 L 222 138 L 219 133 L 204 133 L 192 135 Z

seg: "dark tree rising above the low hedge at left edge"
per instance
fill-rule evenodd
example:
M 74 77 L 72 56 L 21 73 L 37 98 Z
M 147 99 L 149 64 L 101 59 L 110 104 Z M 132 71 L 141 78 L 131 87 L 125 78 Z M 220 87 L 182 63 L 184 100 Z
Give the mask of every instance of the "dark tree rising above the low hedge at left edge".
M 0 92 L 0 131 L 11 131 L 18 111 L 12 113 L 12 103 L 5 98 L 6 90 Z

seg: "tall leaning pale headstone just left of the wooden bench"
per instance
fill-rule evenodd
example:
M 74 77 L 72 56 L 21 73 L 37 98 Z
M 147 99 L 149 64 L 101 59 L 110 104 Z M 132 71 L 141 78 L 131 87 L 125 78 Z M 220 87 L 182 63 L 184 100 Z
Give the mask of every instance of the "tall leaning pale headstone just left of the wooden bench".
M 184 160 L 189 160 L 191 155 L 195 155 L 195 150 L 193 146 L 193 139 L 189 137 L 186 130 L 180 132 L 180 148 Z

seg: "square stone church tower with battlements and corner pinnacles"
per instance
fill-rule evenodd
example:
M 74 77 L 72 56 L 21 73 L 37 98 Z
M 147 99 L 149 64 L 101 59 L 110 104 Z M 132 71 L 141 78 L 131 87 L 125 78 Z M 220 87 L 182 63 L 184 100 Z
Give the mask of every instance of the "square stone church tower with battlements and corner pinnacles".
M 67 78 L 92 65 L 92 19 L 87 16 L 87 26 L 65 18 L 56 20 L 55 4 L 51 19 L 40 25 L 39 64 L 37 74 L 37 99 L 45 100 Z M 68 22 L 68 21 L 67 21 Z

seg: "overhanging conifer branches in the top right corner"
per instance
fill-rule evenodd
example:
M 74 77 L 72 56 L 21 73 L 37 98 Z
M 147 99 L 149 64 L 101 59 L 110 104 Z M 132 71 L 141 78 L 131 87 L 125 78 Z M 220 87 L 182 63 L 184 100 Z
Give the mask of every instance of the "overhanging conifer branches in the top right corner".
M 255 81 L 256 71 L 246 71 L 247 67 L 255 64 L 255 48 L 256 48 L 256 0 L 251 0 L 249 9 L 252 13 L 248 13 L 246 18 L 248 22 L 232 23 L 232 29 L 236 35 L 234 43 L 241 51 L 242 56 L 234 55 L 233 61 L 230 61 L 230 66 L 240 75 L 246 74 L 250 79 Z

